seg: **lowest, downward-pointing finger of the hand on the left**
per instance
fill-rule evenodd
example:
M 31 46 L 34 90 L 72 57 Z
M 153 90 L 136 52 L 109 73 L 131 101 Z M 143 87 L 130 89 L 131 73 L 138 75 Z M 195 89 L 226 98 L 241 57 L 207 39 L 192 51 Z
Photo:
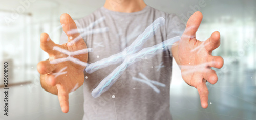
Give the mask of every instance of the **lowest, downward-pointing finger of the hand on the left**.
M 56 84 L 58 89 L 58 99 L 62 112 L 69 112 L 69 93 L 61 84 Z

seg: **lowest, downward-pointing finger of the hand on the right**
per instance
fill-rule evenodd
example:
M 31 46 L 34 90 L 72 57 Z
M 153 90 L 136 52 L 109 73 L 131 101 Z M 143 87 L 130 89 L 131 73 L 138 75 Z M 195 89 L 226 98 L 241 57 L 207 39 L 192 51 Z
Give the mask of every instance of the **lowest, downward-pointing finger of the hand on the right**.
M 207 89 L 205 80 L 199 84 L 199 86 L 197 87 L 197 90 L 198 90 L 198 93 L 199 93 L 199 96 L 200 96 L 202 108 L 207 108 L 208 107 L 209 91 Z

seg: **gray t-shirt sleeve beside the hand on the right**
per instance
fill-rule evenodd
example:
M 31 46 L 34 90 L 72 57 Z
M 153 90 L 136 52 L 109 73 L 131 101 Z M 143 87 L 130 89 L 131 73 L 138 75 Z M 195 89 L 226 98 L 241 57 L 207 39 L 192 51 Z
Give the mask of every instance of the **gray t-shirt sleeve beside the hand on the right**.
M 167 39 L 175 36 L 181 37 L 186 28 L 185 24 L 176 14 L 169 14 L 167 18 Z

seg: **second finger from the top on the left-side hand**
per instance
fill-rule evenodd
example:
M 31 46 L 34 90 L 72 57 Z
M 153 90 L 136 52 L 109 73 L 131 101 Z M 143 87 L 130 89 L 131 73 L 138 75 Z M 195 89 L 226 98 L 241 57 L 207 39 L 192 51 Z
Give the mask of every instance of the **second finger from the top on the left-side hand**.
M 47 33 L 42 33 L 40 41 L 41 49 L 47 52 L 48 54 L 51 54 L 54 46 L 55 43 L 50 39 L 49 35 Z

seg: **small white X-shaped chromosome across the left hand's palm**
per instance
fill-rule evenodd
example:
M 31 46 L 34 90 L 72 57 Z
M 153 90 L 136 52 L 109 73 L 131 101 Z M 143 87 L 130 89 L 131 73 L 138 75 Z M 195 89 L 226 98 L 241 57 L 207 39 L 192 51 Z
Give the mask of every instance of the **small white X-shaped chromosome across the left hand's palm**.
M 74 55 L 79 55 L 79 54 L 85 54 L 85 53 L 93 51 L 92 48 L 86 48 L 86 49 L 70 52 L 68 50 L 62 49 L 62 48 L 57 47 L 57 46 L 54 46 L 53 50 L 57 50 L 57 51 L 59 51 L 63 54 L 69 55 L 69 56 L 65 57 L 65 58 L 53 59 L 52 61 L 50 61 L 50 64 L 58 64 L 58 63 L 62 63 L 62 62 L 65 62 L 65 61 L 72 61 L 75 64 L 79 64 L 79 65 L 84 66 L 84 67 L 88 66 L 89 64 L 86 63 L 86 62 L 82 62 L 79 59 L 74 58 L 73 56 Z

